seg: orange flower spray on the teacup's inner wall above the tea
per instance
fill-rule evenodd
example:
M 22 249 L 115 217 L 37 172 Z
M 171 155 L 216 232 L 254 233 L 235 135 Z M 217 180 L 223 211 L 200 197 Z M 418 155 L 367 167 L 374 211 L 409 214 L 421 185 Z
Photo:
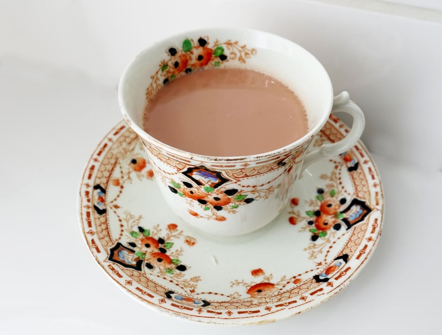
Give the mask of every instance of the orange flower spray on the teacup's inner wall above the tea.
M 159 69 L 151 77 L 152 82 L 146 89 L 146 99 L 150 99 L 162 85 L 167 85 L 183 74 L 190 74 L 204 67 L 220 67 L 229 60 L 246 63 L 250 56 L 256 54 L 256 50 L 232 40 L 215 40 L 210 43 L 209 37 L 204 36 L 196 41 L 186 38 L 180 47 L 167 48 L 166 54 L 168 58 L 160 63 Z

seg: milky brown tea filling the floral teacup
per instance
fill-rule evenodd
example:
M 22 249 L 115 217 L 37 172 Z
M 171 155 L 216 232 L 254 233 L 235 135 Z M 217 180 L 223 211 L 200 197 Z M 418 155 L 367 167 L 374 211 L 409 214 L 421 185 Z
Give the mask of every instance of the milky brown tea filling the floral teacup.
M 148 101 L 144 130 L 172 147 L 218 157 L 266 153 L 308 132 L 304 106 L 291 90 L 235 68 L 171 80 Z

